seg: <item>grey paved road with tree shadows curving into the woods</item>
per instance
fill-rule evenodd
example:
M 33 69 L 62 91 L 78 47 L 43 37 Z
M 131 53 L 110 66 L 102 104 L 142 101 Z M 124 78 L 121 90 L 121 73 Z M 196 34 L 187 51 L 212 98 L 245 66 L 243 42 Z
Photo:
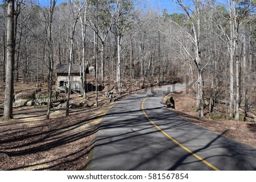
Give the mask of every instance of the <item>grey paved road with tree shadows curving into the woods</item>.
M 132 95 L 104 117 L 90 170 L 256 170 L 256 149 L 168 111 L 174 86 Z M 185 85 L 177 86 L 181 90 Z

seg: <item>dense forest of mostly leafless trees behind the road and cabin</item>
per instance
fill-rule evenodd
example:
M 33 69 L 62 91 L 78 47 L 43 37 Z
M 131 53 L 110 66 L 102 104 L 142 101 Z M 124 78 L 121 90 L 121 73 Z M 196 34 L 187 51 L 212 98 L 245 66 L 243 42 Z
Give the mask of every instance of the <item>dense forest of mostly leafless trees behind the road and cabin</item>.
M 84 98 L 89 82 L 97 100 L 98 86 L 110 82 L 122 94 L 131 82 L 189 81 L 200 117 L 222 105 L 229 120 L 256 120 L 255 0 L 170 0 L 175 12 L 134 0 L 57 1 L 1 3 L 3 120 L 13 118 L 14 83 L 47 84 L 49 118 L 59 64 L 69 65 L 67 105 L 78 64 Z M 94 71 L 86 78 L 88 67 Z

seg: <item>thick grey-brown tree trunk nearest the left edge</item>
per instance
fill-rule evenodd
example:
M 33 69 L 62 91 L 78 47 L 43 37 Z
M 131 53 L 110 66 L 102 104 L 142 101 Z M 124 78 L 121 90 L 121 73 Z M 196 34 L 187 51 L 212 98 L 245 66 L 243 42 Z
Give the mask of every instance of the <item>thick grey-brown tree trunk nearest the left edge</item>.
M 5 86 L 5 106 L 3 120 L 13 118 L 13 94 L 14 94 L 14 75 L 13 65 L 15 56 L 14 42 L 14 0 L 8 1 L 7 7 L 7 54 L 6 54 L 6 86 Z

